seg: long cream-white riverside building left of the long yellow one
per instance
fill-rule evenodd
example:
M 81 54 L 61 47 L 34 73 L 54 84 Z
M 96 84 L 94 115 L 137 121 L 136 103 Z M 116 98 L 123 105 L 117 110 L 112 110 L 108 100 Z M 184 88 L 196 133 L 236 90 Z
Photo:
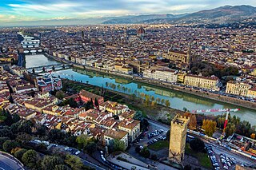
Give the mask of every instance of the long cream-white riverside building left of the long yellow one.
M 146 69 L 143 71 L 143 77 L 158 81 L 177 82 L 178 73 L 172 69 Z

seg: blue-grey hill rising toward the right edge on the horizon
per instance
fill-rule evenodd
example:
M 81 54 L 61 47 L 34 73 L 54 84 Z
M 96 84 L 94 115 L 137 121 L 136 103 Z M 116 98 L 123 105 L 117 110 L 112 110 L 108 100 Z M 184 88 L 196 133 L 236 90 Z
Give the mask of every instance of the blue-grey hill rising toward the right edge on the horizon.
M 104 24 L 135 24 L 135 23 L 231 23 L 242 22 L 248 18 L 256 18 L 254 6 L 221 6 L 213 10 L 201 10 L 192 14 L 172 15 L 154 14 L 114 18 Z

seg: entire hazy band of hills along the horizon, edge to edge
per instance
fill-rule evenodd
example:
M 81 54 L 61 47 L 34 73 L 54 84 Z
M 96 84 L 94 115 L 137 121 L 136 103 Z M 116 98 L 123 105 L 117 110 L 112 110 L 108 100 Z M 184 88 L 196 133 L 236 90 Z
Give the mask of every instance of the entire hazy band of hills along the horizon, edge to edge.
M 1 26 L 65 26 L 97 24 L 229 24 L 234 22 L 256 22 L 254 6 L 221 6 L 212 10 L 201 10 L 192 14 L 148 14 L 121 17 L 56 19 L 30 22 L 2 22 Z

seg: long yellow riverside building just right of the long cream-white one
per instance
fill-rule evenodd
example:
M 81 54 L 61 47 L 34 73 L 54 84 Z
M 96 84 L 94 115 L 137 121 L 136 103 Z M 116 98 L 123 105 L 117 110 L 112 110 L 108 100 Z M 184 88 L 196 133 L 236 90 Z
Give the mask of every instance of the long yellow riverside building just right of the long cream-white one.
M 184 85 L 190 85 L 202 89 L 219 90 L 220 81 L 218 77 L 203 77 L 194 74 L 187 74 L 184 78 Z

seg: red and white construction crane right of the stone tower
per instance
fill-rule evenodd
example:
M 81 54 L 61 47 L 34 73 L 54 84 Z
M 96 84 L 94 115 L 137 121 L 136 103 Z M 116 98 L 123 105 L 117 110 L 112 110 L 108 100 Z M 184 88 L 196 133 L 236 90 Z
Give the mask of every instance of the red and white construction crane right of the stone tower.
M 240 109 L 199 109 L 199 110 L 192 110 L 191 113 L 198 114 L 198 113 L 213 113 L 213 112 L 226 112 L 226 119 L 224 122 L 222 137 L 225 136 L 225 128 L 228 123 L 228 118 L 230 115 L 230 112 L 238 112 Z

